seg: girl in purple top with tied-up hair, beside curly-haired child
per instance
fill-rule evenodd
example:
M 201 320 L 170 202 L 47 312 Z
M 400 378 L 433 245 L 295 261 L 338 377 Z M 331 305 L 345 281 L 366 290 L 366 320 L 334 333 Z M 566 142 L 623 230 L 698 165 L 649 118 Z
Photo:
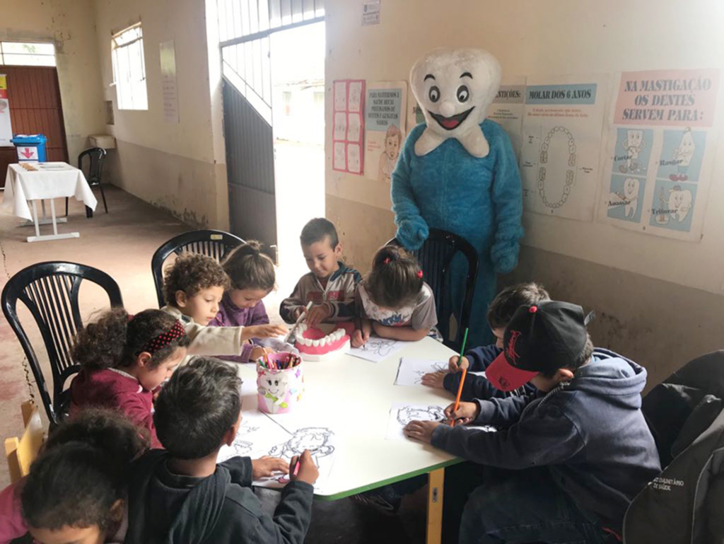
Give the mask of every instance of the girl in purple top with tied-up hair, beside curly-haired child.
M 274 289 L 277 277 L 274 273 L 274 262 L 261 252 L 261 245 L 256 240 L 249 240 L 232 251 L 222 263 L 224 272 L 231 280 L 231 288 L 224 293 L 219 313 L 211 320 L 209 327 L 253 327 L 269 324 L 264 302 L 261 300 Z M 251 338 L 241 348 L 239 356 L 219 356 L 219 359 L 248 363 L 257 361 L 265 353 L 273 351 L 270 347 L 281 350 L 285 346 L 277 338 Z

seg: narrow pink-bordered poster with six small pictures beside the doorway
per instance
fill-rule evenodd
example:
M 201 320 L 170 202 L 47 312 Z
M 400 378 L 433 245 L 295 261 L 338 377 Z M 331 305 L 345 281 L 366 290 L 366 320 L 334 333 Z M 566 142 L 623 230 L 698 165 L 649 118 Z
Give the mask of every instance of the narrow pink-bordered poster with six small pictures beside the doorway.
M 334 81 L 334 170 L 358 175 L 363 173 L 364 90 L 364 80 Z

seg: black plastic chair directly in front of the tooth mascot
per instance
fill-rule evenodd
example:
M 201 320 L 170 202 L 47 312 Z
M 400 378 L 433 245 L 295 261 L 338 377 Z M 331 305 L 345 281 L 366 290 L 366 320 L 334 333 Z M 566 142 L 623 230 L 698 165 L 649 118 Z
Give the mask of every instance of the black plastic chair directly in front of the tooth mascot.
M 392 238 L 387 245 L 400 246 L 397 238 Z M 463 300 L 450 299 L 450 278 L 447 272 L 450 263 L 458 252 L 462 253 L 468 261 L 466 288 Z M 465 238 L 448 233 L 447 230 L 430 229 L 425 243 L 416 251 L 411 251 L 422 268 L 426 283 L 432 288 L 437 307 L 437 329 L 442 335 L 445 346 L 460 350 L 463 343 L 463 334 L 470 324 L 470 312 L 475 295 L 475 282 L 478 277 L 478 254 L 475 248 Z M 458 327 L 455 338 L 450 338 L 450 316 L 455 314 Z

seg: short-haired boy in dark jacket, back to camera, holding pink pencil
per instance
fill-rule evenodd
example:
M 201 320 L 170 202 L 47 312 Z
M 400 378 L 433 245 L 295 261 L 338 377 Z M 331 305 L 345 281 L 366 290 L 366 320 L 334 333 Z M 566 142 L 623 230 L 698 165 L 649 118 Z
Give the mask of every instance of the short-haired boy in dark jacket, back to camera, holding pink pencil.
M 164 386 L 153 416 L 166 451 L 135 466 L 126 544 L 302 544 L 319 473 L 308 451 L 292 459 L 232 457 L 216 464 L 241 423 L 241 380 L 235 369 L 198 357 Z M 298 472 L 291 470 L 299 461 Z M 274 516 L 265 514 L 251 482 L 292 472 Z

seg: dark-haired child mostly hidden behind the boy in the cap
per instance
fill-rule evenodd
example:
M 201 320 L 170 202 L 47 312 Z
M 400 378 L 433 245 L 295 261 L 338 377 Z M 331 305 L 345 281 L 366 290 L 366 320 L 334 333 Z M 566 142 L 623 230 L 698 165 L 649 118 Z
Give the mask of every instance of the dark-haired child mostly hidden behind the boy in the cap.
M 473 398 L 504 398 L 511 393 L 505 393 L 492 385 L 487 377 L 470 374 L 470 372 L 484 372 L 487 367 L 500 355 L 502 351 L 502 336 L 505 327 L 508 327 L 510 319 L 513 318 L 515 310 L 520 306 L 534 306 L 541 301 L 550 301 L 547 290 L 539 283 L 518 283 L 510 285 L 501 290 L 493 298 L 488 308 L 488 325 L 492 329 L 496 342 L 489 346 L 480 346 L 468 351 L 462 361 L 460 357 L 453 355 L 448 361 L 447 372 L 430 372 L 422 377 L 422 384 L 431 388 L 445 389 L 452 394 L 458 393 L 460 386 L 461 372 L 468 369 L 468 376 L 463 385 L 463 401 L 471 401 Z M 532 385 L 524 385 L 523 389 L 513 393 L 533 393 L 535 388 Z

